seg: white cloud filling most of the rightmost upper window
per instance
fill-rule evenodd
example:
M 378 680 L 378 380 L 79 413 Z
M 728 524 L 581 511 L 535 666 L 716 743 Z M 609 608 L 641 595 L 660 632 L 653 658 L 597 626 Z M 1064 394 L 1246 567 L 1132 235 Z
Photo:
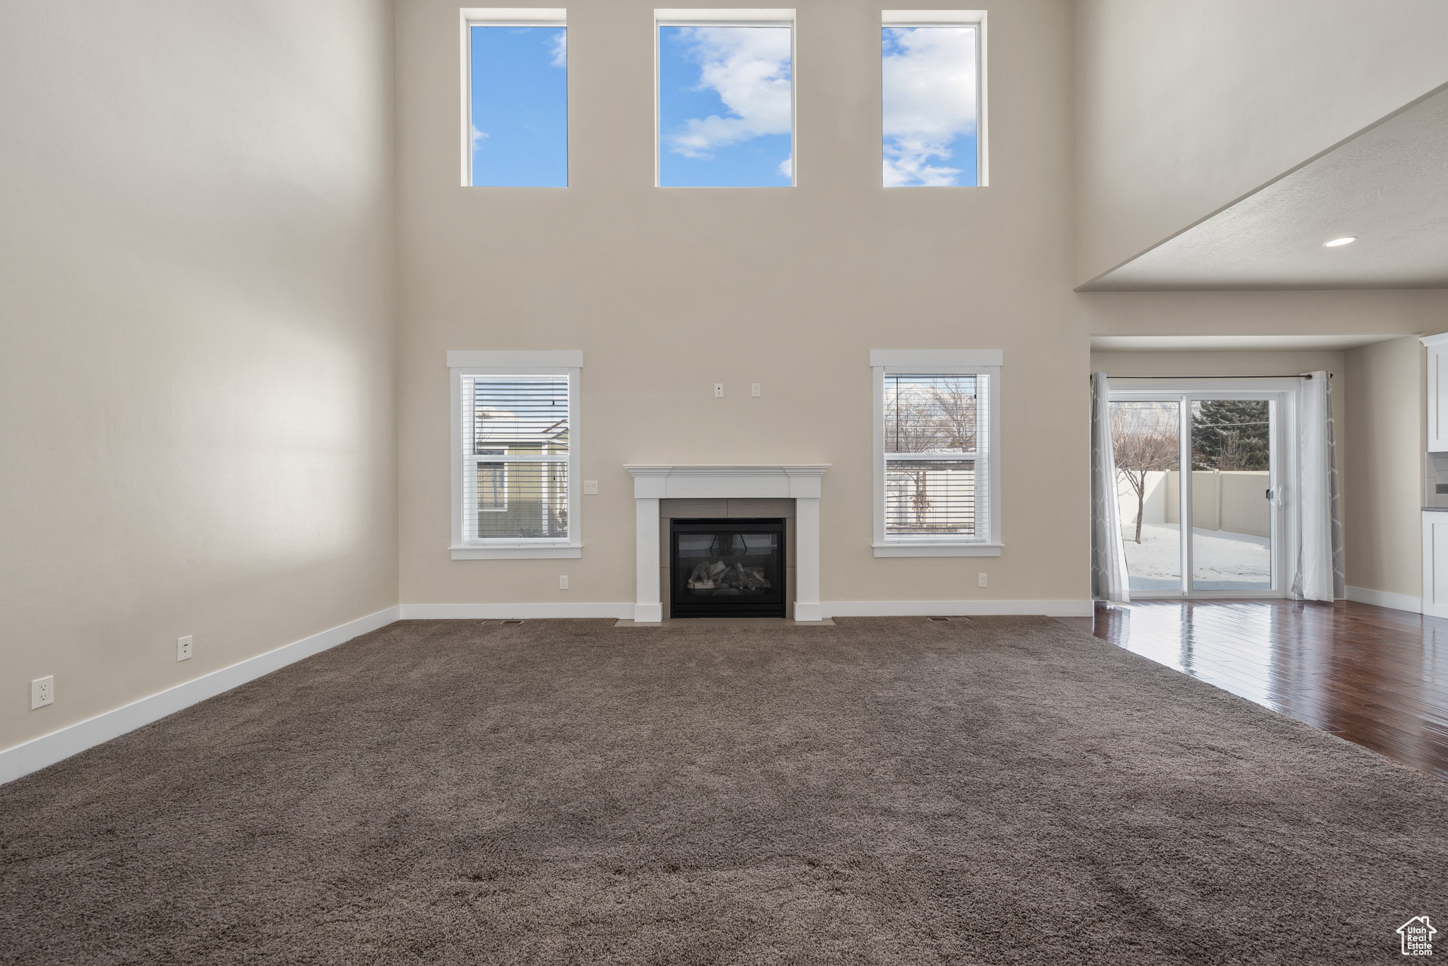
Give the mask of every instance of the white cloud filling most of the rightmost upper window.
M 950 185 L 950 143 L 976 129 L 973 28 L 889 30 L 883 59 L 885 185 Z

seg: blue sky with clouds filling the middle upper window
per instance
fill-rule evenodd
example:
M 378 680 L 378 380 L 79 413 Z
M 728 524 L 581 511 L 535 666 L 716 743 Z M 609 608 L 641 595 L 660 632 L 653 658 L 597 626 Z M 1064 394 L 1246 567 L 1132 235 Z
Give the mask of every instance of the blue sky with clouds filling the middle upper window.
M 659 28 L 659 184 L 792 184 L 791 28 Z

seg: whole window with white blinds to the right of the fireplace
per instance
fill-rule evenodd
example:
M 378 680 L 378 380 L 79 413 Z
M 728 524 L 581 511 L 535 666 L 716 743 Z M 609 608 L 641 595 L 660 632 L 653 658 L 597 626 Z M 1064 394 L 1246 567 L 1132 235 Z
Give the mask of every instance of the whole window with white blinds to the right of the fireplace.
M 948 361 L 967 353 L 875 355 L 921 364 L 876 366 L 876 555 L 998 547 L 992 463 L 999 366 L 928 365 L 933 355 Z

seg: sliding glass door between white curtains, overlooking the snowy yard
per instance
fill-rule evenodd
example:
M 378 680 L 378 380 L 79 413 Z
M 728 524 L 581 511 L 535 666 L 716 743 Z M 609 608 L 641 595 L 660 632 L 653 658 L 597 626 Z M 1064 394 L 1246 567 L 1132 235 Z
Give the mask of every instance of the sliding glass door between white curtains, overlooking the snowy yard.
M 1235 388 L 1248 379 L 1119 382 L 1111 432 L 1132 597 L 1286 595 L 1295 394 Z

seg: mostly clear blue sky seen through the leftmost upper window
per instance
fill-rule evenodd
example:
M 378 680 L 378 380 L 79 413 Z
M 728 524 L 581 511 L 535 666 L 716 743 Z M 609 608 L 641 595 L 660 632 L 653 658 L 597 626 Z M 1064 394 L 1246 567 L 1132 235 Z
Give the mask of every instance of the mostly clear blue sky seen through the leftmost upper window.
M 568 187 L 565 28 L 471 28 L 472 182 Z

